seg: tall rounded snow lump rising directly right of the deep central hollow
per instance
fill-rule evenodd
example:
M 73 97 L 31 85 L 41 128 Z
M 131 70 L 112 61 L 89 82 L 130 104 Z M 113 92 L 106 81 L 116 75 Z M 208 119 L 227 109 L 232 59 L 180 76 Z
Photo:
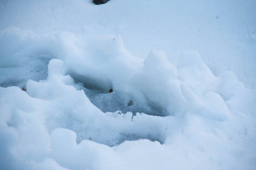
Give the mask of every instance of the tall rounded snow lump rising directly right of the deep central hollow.
M 168 61 L 166 54 L 160 50 L 154 50 L 144 60 L 144 66 L 131 76 L 129 84 L 141 91 L 152 108 L 164 116 L 172 114 L 166 109 L 170 103 L 176 108 L 176 101 L 182 100 L 179 80 L 176 76 L 177 70 Z M 157 109 L 158 107 L 163 109 Z

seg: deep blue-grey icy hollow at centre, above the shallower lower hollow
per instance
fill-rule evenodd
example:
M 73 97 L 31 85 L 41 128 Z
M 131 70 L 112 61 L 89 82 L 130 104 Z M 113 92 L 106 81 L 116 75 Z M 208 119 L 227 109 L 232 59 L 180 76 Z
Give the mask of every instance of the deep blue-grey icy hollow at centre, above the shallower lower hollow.
M 108 79 L 96 79 L 89 76 L 82 76 L 69 73 L 76 83 L 84 84 L 83 90 L 88 99 L 102 112 L 121 111 L 122 113 L 131 112 L 145 113 L 153 116 L 169 116 L 167 109 L 159 104 L 147 100 L 141 102 L 129 94 L 115 91 L 112 82 Z

